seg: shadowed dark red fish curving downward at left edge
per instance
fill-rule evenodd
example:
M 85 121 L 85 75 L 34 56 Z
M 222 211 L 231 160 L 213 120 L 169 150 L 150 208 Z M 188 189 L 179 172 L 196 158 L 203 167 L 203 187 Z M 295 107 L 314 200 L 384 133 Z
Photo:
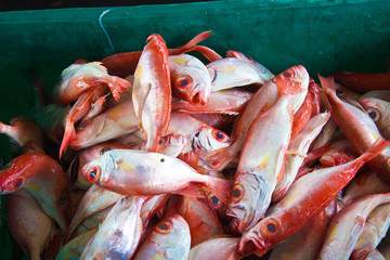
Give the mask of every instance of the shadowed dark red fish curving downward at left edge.
M 20 190 L 31 194 L 66 236 L 70 221 L 70 186 L 66 173 L 50 156 L 29 153 L 17 156 L 0 171 L 0 194 Z

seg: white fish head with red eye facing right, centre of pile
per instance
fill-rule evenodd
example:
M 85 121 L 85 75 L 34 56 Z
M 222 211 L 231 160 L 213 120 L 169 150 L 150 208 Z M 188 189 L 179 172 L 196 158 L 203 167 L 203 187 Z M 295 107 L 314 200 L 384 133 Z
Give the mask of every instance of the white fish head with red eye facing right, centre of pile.
M 195 146 L 208 152 L 229 146 L 231 139 L 221 130 L 210 126 L 204 126 L 194 135 L 193 143 Z

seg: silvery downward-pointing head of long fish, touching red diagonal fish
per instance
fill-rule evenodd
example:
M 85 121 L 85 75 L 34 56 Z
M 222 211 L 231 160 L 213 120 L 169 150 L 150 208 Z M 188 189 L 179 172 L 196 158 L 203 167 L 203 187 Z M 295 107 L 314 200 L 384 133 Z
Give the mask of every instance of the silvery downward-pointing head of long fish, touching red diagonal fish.
M 226 216 L 233 217 L 231 230 L 243 234 L 264 217 L 270 203 L 270 186 L 260 174 L 239 174 L 235 180 L 231 204 L 226 210 Z

